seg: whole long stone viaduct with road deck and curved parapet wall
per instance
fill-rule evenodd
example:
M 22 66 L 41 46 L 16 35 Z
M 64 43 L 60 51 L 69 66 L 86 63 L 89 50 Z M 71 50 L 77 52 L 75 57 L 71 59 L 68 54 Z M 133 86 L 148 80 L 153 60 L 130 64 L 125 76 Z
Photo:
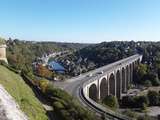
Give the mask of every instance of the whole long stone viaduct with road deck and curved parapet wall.
M 129 84 L 133 81 L 134 68 L 141 60 L 142 55 L 136 54 L 55 84 L 77 97 L 83 105 L 98 114 L 105 113 L 113 118 L 127 119 L 95 101 L 103 99 L 107 95 L 114 95 L 121 99 L 122 94 L 127 92 Z

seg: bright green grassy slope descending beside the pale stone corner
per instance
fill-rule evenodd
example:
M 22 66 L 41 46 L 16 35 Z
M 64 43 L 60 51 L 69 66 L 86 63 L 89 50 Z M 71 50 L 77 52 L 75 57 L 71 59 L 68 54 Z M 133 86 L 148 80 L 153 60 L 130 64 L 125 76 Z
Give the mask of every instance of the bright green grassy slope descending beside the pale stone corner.
M 25 84 L 23 79 L 0 65 L 0 84 L 11 94 L 17 101 L 21 110 L 29 117 L 30 120 L 47 120 L 45 111 L 35 97 L 33 91 Z

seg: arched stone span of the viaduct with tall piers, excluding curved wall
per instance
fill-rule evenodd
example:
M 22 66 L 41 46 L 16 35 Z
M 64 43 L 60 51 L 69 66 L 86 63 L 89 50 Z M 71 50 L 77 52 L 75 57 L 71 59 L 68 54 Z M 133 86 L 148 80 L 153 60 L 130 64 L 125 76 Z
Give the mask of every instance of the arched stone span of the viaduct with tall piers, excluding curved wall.
M 85 94 L 94 101 L 111 94 L 121 99 L 122 94 L 129 89 L 133 81 L 133 70 L 141 60 L 141 55 L 134 55 L 111 64 L 112 67 L 107 71 L 104 69 L 102 75 L 87 81 L 88 84 L 84 87 Z

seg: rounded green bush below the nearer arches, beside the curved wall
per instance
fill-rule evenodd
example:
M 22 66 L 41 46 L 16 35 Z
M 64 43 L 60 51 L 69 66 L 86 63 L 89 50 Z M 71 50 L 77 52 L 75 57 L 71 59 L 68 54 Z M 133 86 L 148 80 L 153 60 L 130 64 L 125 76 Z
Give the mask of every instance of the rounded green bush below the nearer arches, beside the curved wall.
M 113 95 L 106 96 L 102 102 L 111 108 L 118 108 L 117 98 Z

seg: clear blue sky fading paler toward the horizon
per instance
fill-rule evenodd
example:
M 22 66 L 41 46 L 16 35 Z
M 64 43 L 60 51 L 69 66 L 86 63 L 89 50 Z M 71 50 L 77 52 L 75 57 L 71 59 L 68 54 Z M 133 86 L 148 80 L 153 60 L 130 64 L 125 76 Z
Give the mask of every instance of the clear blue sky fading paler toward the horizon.
M 0 16 L 6 39 L 160 40 L 160 0 L 1 0 Z

